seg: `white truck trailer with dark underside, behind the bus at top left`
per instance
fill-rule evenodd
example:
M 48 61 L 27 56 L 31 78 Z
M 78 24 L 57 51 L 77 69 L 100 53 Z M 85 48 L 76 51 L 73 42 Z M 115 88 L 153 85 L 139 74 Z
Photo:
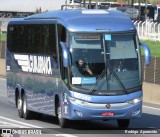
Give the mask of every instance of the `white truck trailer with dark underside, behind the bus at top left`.
M 69 0 L 67 1 L 69 3 Z M 0 18 L 26 17 L 48 10 L 59 10 L 65 0 L 1 0 Z

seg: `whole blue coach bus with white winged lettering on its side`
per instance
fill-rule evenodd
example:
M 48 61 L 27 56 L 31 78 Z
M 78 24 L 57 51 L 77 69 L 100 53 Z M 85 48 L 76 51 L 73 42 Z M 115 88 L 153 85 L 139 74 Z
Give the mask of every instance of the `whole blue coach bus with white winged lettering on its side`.
M 150 50 L 119 11 L 50 11 L 8 24 L 8 100 L 21 118 L 33 112 L 69 120 L 117 120 L 142 113 L 142 68 Z M 81 66 L 80 66 L 81 64 Z

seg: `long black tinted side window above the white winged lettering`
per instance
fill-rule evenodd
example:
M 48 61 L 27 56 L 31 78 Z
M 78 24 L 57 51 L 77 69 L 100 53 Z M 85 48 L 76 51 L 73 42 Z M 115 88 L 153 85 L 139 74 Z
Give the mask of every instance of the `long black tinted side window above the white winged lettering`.
M 10 25 L 8 49 L 16 53 L 50 54 L 56 56 L 55 25 Z

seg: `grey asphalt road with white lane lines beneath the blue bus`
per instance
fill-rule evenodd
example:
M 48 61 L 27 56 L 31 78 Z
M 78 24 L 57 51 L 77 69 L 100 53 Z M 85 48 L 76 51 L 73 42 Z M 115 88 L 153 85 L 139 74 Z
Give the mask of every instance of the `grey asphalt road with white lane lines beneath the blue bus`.
M 143 114 L 141 119 L 131 120 L 129 129 L 119 130 L 116 121 L 74 121 L 70 122 L 70 127 L 67 129 L 60 129 L 58 121 L 55 117 L 35 114 L 31 120 L 24 120 L 18 117 L 17 109 L 8 103 L 6 95 L 6 80 L 0 78 L 0 128 L 29 128 L 29 129 L 42 129 L 41 132 L 47 134 L 51 133 L 52 136 L 59 137 L 101 137 L 109 135 L 110 137 L 117 136 L 132 136 L 137 130 L 154 130 L 159 129 L 160 136 L 160 106 L 149 103 L 143 104 Z M 37 118 L 37 115 L 39 116 Z M 134 130 L 133 130 L 134 129 Z M 28 132 L 28 131 L 27 131 Z M 128 132 L 128 134 L 124 134 Z M 50 135 L 34 135 L 34 136 L 51 136 Z M 21 135 L 28 136 L 28 135 Z M 32 136 L 32 135 L 30 135 Z M 144 136 L 139 134 L 138 136 Z M 151 134 L 145 134 L 151 136 Z M 152 135 L 153 136 L 153 135 Z

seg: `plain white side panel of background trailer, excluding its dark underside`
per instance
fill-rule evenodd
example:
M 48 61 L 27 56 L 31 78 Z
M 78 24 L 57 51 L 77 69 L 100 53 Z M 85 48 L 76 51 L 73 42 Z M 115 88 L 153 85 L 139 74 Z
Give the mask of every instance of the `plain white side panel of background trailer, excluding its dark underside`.
M 0 11 L 58 10 L 64 4 L 65 0 L 0 0 Z

